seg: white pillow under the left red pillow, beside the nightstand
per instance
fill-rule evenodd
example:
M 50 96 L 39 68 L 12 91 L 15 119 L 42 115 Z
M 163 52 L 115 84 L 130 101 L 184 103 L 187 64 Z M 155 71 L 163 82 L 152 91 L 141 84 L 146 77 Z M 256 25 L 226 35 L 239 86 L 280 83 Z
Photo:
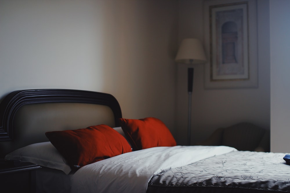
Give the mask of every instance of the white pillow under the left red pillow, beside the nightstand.
M 57 149 L 48 142 L 36 143 L 17 149 L 5 156 L 5 159 L 16 159 L 31 162 L 40 166 L 53 168 L 70 173 L 71 168 Z

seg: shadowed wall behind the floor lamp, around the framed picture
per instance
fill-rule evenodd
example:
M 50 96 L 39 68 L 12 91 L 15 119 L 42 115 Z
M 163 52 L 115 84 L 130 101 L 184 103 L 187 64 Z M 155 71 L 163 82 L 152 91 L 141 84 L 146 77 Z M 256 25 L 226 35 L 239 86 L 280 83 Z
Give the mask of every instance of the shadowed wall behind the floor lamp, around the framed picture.
M 206 0 L 205 0 L 206 1 Z M 270 128 L 269 1 L 258 0 L 258 88 L 204 89 L 204 66 L 194 66 L 192 98 L 192 143 L 202 141 L 218 127 L 251 122 Z M 179 1 L 178 42 L 204 39 L 203 1 Z M 206 53 L 209 56 L 209 53 Z M 178 65 L 177 128 L 179 144 L 186 144 L 187 68 Z

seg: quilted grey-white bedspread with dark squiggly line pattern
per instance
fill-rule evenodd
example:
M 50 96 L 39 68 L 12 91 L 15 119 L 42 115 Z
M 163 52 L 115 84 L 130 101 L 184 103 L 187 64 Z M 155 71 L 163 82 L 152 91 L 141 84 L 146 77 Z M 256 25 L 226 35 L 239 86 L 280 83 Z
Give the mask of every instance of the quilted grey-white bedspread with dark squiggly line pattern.
M 290 192 L 290 165 L 285 164 L 284 156 L 282 153 L 236 151 L 211 157 L 161 172 L 148 183 L 148 192 L 170 192 L 170 189 L 174 190 L 171 192 L 193 192 L 188 191 L 190 187 L 220 187 L 221 192 L 224 188 L 232 192 L 238 189 L 241 192 Z

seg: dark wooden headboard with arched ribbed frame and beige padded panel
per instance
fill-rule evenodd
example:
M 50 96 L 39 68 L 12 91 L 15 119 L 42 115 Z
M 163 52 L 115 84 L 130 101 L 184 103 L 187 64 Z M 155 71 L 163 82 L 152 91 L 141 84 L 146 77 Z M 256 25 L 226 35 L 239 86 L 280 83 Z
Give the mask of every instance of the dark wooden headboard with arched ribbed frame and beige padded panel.
M 97 124 L 117 127 L 119 118 L 120 105 L 107 93 L 71 89 L 14 91 L 0 103 L 0 156 L 21 146 L 48 141 L 46 131 Z

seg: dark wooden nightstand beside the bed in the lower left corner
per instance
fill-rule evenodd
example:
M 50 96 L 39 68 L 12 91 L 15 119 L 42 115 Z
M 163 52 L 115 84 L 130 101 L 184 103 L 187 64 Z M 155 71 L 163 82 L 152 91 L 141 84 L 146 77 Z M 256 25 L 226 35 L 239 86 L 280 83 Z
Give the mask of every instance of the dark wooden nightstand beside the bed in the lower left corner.
M 0 163 L 0 192 L 35 192 L 35 170 L 41 166 L 23 162 Z

